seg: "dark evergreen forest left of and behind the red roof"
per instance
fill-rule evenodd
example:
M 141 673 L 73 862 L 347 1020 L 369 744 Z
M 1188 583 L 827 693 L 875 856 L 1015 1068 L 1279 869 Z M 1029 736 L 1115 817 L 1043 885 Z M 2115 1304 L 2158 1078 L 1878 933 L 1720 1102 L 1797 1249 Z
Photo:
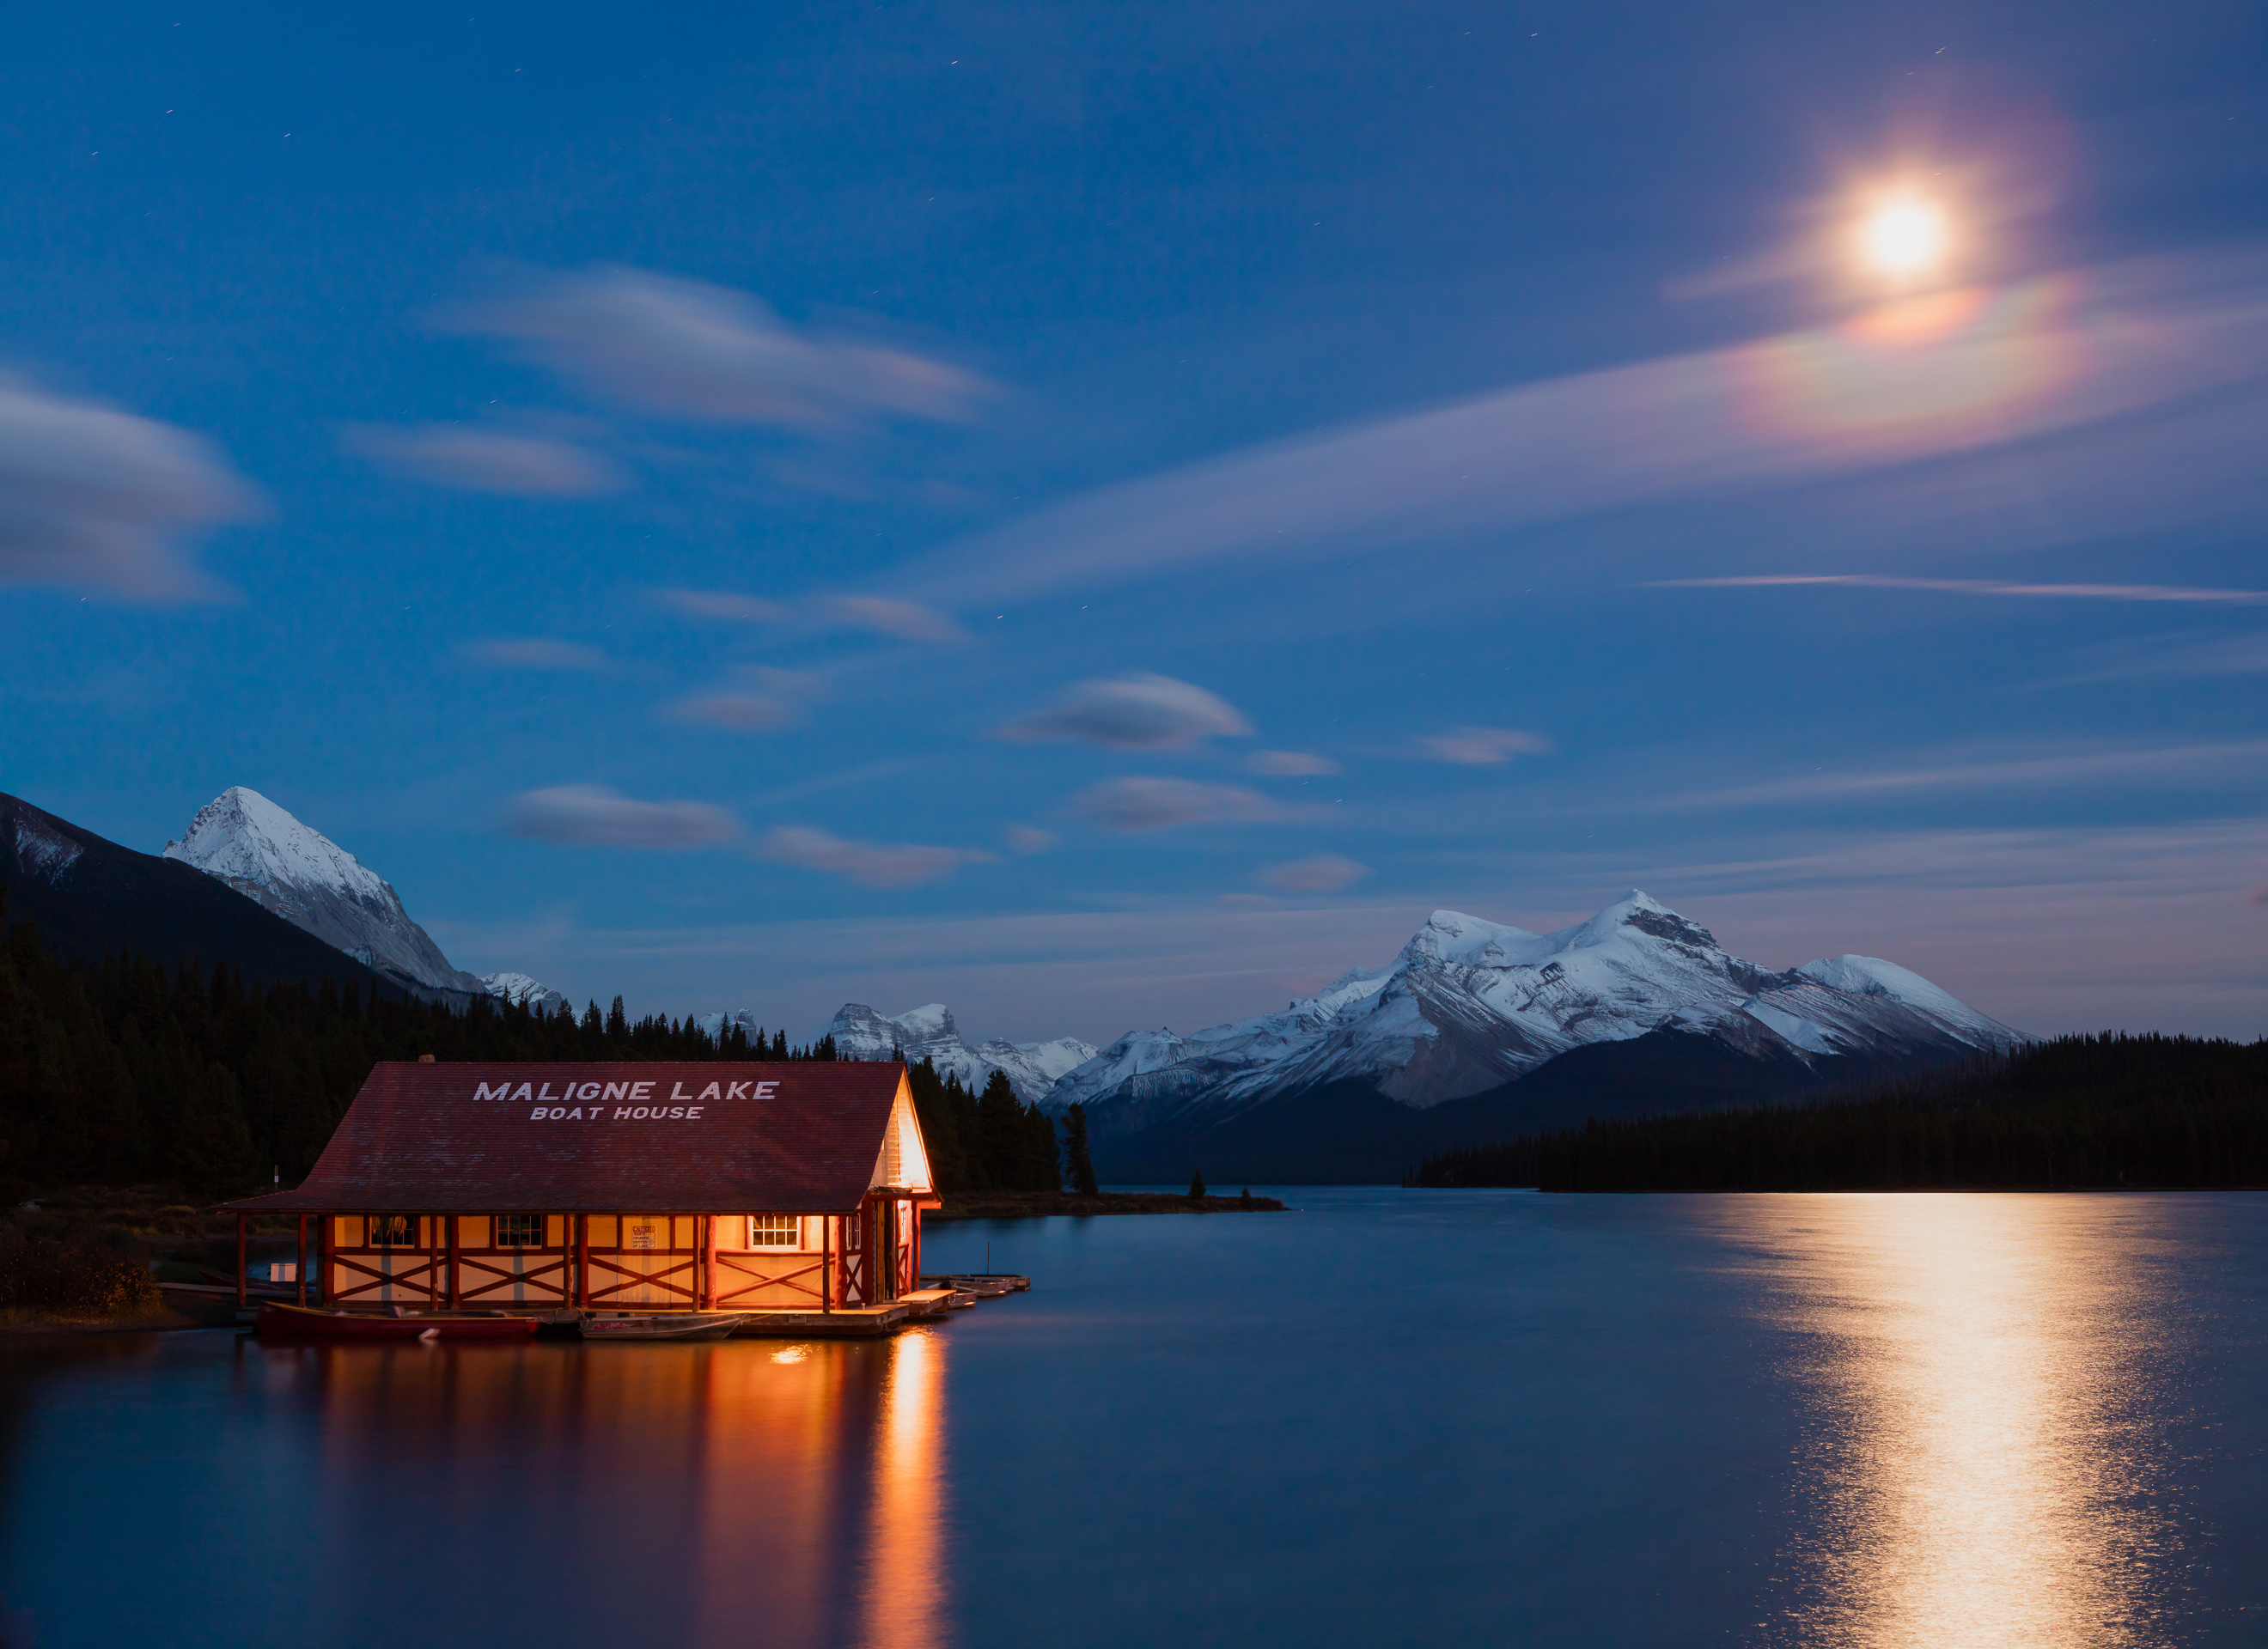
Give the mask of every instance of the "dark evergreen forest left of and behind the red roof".
M 0 925 L 7 889 L 0 887 Z M 544 1014 L 249 984 L 195 962 L 59 962 L 32 923 L 0 939 L 0 1191 L 54 1184 L 297 1184 L 379 1059 L 832 1059 L 832 1037 L 705 1034 L 592 1003 Z

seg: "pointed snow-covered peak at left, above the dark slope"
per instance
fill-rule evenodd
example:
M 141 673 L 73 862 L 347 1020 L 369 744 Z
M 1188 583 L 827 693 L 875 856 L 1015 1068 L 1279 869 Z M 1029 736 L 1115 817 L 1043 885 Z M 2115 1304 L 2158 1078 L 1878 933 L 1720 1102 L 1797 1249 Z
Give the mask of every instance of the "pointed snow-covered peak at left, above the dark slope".
M 256 789 L 220 792 L 188 821 L 188 835 L 166 844 L 163 857 L 227 882 L 399 984 L 474 996 L 488 989 L 451 966 L 386 878 Z

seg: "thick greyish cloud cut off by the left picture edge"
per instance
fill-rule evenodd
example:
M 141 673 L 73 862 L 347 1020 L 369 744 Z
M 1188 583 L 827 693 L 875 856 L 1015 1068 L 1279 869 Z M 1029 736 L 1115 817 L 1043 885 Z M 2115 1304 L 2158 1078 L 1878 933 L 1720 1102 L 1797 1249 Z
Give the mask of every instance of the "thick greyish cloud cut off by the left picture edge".
M 209 601 L 225 590 L 181 540 L 259 513 L 209 440 L 0 377 L 0 583 Z

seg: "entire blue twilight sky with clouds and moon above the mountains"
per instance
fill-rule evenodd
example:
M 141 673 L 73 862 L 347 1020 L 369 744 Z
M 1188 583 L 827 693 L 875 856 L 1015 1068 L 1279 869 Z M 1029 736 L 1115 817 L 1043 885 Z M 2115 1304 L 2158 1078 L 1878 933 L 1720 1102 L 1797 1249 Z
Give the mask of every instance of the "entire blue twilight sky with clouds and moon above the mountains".
M 1635 885 L 2252 1037 L 2263 86 L 2216 2 L 11 11 L 0 789 L 794 1034 Z

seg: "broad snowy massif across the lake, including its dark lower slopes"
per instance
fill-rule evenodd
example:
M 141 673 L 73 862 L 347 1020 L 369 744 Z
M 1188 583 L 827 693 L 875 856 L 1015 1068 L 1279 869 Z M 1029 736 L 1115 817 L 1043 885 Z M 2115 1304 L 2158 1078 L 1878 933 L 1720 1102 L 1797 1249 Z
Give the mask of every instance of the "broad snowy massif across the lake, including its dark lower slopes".
M 1681 1109 L 1681 1093 L 1785 1098 L 2025 1041 L 1878 957 L 1778 973 L 1744 962 L 1633 889 L 1551 935 L 1438 910 L 1386 969 L 1356 969 L 1284 1012 L 1191 1037 L 1127 1032 L 1043 1105 L 1086 1107 L 1107 1173 L 1211 1173 L 1186 1161 L 1211 1136 L 1234 1139 L 1238 1173 L 1259 1179 L 1281 1177 L 1263 1170 L 1293 1159 L 1309 1173 L 1331 1159 L 1325 1177 L 1359 1177 L 1349 1152 L 1309 1134 L 1338 1127 L 1379 1148 L 1438 1148 L 1445 1134 L 1465 1143 L 1456 1134 L 1467 1123 L 1497 1136 L 1535 1107 L 1563 1118 L 1583 1102 L 1601 1114 Z M 1572 1055 L 1585 1057 L 1560 1071 Z M 1338 1121 L 1325 1123 L 1325 1111 Z M 1420 1125 L 1429 1111 L 1438 1116 Z M 1404 1166 L 1379 1161 L 1372 1173 L 1397 1177 Z

